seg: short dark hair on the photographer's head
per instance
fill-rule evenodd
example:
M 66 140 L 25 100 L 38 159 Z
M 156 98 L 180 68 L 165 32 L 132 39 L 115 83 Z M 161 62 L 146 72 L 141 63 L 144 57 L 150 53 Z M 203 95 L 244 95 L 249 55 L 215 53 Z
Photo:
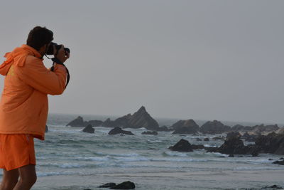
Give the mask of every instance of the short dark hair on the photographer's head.
M 42 46 L 53 41 L 53 32 L 45 27 L 35 26 L 33 30 L 28 33 L 27 45 L 40 50 Z

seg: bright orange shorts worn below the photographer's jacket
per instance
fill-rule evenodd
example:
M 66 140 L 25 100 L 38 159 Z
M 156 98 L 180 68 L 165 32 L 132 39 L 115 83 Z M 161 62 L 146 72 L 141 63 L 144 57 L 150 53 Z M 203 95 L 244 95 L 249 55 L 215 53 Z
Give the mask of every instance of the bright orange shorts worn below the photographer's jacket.
M 0 134 L 0 168 L 17 169 L 35 165 L 33 137 L 28 134 Z

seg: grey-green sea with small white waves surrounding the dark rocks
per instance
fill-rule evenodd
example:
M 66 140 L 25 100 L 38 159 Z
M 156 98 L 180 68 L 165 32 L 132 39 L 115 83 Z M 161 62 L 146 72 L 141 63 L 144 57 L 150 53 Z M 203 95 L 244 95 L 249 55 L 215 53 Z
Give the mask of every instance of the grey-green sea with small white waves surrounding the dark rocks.
M 217 135 L 180 135 L 158 132 L 143 135 L 145 128 L 129 129 L 130 135 L 109 135 L 111 128 L 94 127 L 94 134 L 82 127 L 67 127 L 78 115 L 48 115 L 45 140 L 35 139 L 38 181 L 33 189 L 105 189 L 100 185 L 131 181 L 136 189 L 270 189 L 284 187 L 284 166 L 272 164 L 279 155 L 259 157 L 210 153 L 205 150 L 174 152 L 168 147 L 180 139 L 205 147 L 218 147 Z M 105 120 L 108 116 L 81 115 L 84 120 Z M 111 117 L 115 119 L 116 117 Z M 172 125 L 178 119 L 156 119 L 159 125 Z M 202 125 L 206 121 L 197 120 Z M 234 125 L 234 122 L 224 122 Z M 255 125 L 253 123 L 241 123 Z M 225 134 L 223 134 L 225 135 Z M 197 137 L 209 141 L 197 141 Z M 249 144 L 249 142 L 245 142 Z M 283 156 L 284 157 L 284 156 Z

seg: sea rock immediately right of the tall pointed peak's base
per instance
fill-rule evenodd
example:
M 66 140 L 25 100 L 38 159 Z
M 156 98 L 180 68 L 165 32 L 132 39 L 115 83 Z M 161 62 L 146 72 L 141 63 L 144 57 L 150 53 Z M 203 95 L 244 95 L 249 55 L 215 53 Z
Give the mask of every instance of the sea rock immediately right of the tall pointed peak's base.
M 175 130 L 173 134 L 196 134 L 200 131 L 200 126 L 194 120 L 180 120 L 170 128 Z

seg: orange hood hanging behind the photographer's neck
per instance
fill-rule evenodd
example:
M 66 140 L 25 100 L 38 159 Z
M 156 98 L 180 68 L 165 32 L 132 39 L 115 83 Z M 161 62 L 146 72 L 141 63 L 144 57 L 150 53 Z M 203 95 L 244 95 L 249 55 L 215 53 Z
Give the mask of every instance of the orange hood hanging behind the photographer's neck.
M 12 64 L 18 67 L 23 67 L 28 55 L 35 56 L 37 58 L 41 57 L 38 51 L 26 44 L 23 44 L 21 47 L 15 48 L 12 52 L 6 53 L 4 56 L 6 60 L 0 65 L 0 74 L 7 75 Z

